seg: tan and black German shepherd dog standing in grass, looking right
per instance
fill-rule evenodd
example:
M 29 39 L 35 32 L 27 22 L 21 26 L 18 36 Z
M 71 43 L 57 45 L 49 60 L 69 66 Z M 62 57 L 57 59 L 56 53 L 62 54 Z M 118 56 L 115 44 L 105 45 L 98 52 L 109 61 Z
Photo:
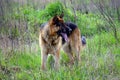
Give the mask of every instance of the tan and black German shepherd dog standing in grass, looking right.
M 41 47 L 41 68 L 46 69 L 48 54 L 55 60 L 55 69 L 59 68 L 61 48 L 68 54 L 70 62 L 80 60 L 82 46 L 81 34 L 78 27 L 70 22 L 64 22 L 63 16 L 54 16 L 47 23 L 41 25 L 39 45 Z

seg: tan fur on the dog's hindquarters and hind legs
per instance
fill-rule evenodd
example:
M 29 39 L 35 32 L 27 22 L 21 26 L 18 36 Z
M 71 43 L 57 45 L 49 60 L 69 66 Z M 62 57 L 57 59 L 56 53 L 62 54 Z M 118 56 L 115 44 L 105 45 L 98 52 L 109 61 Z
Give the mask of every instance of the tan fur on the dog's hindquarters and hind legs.
M 81 37 L 80 30 L 76 28 L 69 37 L 69 42 L 63 45 L 63 50 L 69 56 L 70 63 L 74 63 L 75 59 L 80 61 Z

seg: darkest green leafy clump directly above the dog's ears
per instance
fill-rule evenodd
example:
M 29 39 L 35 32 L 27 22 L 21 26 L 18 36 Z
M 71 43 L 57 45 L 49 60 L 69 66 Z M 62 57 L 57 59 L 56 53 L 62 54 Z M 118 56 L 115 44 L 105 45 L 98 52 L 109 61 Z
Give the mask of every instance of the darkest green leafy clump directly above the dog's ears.
M 62 12 L 65 12 L 65 8 L 62 3 L 50 3 L 40 12 L 39 18 L 41 19 L 41 22 L 48 21 L 51 17 L 60 15 Z

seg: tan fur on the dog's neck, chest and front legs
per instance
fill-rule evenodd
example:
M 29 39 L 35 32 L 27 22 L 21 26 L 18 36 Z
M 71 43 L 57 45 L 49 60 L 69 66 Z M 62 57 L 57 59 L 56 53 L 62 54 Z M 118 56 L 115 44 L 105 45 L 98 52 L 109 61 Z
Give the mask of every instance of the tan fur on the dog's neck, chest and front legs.
M 59 67 L 59 53 L 61 49 L 62 39 L 55 33 L 59 27 L 53 25 L 51 19 L 43 29 L 40 30 L 39 44 L 41 47 L 41 68 L 46 69 L 48 54 L 52 54 L 55 59 L 55 68 Z

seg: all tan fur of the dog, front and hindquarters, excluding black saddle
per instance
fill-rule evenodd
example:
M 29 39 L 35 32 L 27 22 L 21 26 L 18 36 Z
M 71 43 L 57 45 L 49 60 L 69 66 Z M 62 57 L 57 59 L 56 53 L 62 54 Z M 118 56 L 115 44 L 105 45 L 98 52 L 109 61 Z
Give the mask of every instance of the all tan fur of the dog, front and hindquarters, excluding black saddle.
M 64 22 L 60 17 L 59 21 Z M 48 54 L 52 54 L 55 60 L 55 68 L 59 68 L 60 50 L 61 48 L 68 54 L 70 62 L 74 63 L 74 60 L 80 60 L 81 49 L 81 37 L 80 30 L 76 28 L 69 36 L 69 42 L 62 45 L 62 38 L 55 33 L 59 30 L 59 27 L 53 25 L 53 19 L 51 19 L 41 30 L 39 34 L 39 45 L 41 47 L 41 68 L 46 69 L 46 62 Z

